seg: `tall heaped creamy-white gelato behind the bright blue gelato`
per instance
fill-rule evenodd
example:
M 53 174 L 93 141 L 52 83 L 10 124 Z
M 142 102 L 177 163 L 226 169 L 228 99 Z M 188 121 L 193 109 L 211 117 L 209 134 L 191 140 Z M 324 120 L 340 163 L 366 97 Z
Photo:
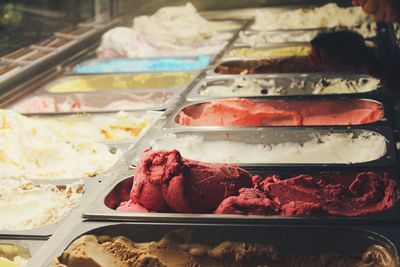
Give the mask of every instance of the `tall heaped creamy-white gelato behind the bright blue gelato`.
M 196 8 L 163 7 L 151 16 L 134 18 L 132 29 L 116 27 L 105 33 L 99 58 L 195 56 L 218 53 L 233 36 L 218 32 Z

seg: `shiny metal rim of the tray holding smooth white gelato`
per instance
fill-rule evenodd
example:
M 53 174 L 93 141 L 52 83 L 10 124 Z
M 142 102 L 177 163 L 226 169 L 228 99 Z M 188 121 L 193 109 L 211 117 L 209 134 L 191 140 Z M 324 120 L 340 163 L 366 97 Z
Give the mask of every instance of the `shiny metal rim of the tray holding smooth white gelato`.
M 152 140 L 157 140 L 165 134 L 173 133 L 173 134 L 182 134 L 182 135 L 203 135 L 207 138 L 213 139 L 215 135 L 216 140 L 220 140 L 220 136 L 229 135 L 230 137 L 242 135 L 251 135 L 252 143 L 257 138 L 261 139 L 261 136 L 270 136 L 271 138 L 266 137 L 265 140 L 272 140 L 275 143 L 275 139 L 273 139 L 276 135 L 285 135 L 284 142 L 295 142 L 290 138 L 299 137 L 303 139 L 310 138 L 312 134 L 329 134 L 329 133 L 358 133 L 358 132 L 370 132 L 377 133 L 386 138 L 386 152 L 385 154 L 375 160 L 368 162 L 359 162 L 359 163 L 229 163 L 235 164 L 243 168 L 247 169 L 265 169 L 265 168 L 358 168 L 358 167 L 371 167 L 371 168 L 381 168 L 393 166 L 396 163 L 396 144 L 393 139 L 392 129 L 388 126 L 352 126 L 352 127 L 332 127 L 332 128 L 322 128 L 322 127 L 271 127 L 271 128 L 251 128 L 251 127 L 243 127 L 243 128 L 226 128 L 226 129 L 164 129 L 162 131 L 157 132 L 151 136 L 147 136 L 147 138 L 142 138 L 140 142 L 138 142 L 135 146 L 134 153 L 131 155 L 131 165 L 130 167 L 133 169 L 136 167 L 137 160 L 141 157 L 142 151 L 146 149 L 151 149 L 149 144 Z M 289 136 L 288 136 L 289 134 Z M 243 137 L 243 142 L 246 142 L 248 136 Z M 235 140 L 237 140 L 235 138 Z M 268 141 L 260 140 L 260 144 L 266 144 Z M 277 142 L 280 143 L 280 142 Z

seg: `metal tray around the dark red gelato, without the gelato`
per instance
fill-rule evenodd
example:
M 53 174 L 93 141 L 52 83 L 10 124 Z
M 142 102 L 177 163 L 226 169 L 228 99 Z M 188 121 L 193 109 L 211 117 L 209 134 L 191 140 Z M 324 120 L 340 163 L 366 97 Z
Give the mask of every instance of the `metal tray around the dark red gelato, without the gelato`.
M 376 171 L 380 175 L 386 173 L 389 169 L 371 169 L 354 168 L 344 170 L 334 168 L 326 169 L 306 169 L 302 168 L 291 171 L 287 168 L 273 171 L 271 168 L 264 171 L 250 171 L 253 175 L 260 177 L 278 175 L 280 177 L 295 177 L 302 174 L 310 174 L 318 177 L 325 175 L 355 175 L 359 172 Z M 241 215 L 241 214 L 213 214 L 209 213 L 169 213 L 169 212 L 123 212 L 116 210 L 120 203 L 130 199 L 130 191 L 133 185 L 133 176 L 118 178 L 109 188 L 101 192 L 100 197 L 87 206 L 83 212 L 83 218 L 89 220 L 107 220 L 107 221 L 132 221 L 132 222 L 163 222 L 163 223 L 246 223 L 246 224 L 277 224 L 277 225 L 390 225 L 398 224 L 399 203 L 396 203 L 391 209 L 365 216 L 282 216 L 282 215 Z M 398 175 L 396 169 L 392 169 L 389 177 Z M 392 177 L 393 178 L 393 177 Z M 395 192 L 395 198 L 398 192 Z

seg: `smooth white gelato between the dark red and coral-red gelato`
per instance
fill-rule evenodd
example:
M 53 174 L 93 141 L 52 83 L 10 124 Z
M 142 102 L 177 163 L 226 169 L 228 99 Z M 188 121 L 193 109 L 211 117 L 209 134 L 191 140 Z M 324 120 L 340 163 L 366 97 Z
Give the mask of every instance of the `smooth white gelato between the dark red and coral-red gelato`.
M 253 144 L 209 140 L 202 135 L 166 134 L 150 142 L 152 150 L 177 149 L 183 157 L 218 163 L 361 163 L 386 153 L 386 138 L 373 132 L 316 134 L 303 143 Z

